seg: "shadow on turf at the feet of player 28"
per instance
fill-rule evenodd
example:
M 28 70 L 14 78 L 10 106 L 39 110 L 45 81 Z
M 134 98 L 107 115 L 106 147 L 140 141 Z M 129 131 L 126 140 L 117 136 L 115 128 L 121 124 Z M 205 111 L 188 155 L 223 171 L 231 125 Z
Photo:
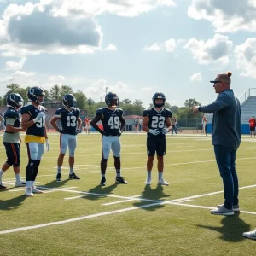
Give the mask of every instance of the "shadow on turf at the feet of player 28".
M 164 197 L 169 197 L 171 195 L 165 195 L 164 188 L 161 185 L 158 185 L 155 189 L 152 189 L 150 185 L 146 185 L 143 192 L 142 192 L 142 198 L 143 199 L 149 199 L 149 200 L 155 200 L 154 201 L 136 201 L 133 205 L 135 207 L 142 207 L 148 205 L 148 207 L 143 207 L 143 210 L 147 211 L 155 211 L 156 209 L 159 209 L 161 207 L 164 207 L 163 204 L 158 204 L 157 201 L 164 201 Z M 154 205 L 156 203 L 156 205 Z M 152 206 L 150 206 L 152 205 Z

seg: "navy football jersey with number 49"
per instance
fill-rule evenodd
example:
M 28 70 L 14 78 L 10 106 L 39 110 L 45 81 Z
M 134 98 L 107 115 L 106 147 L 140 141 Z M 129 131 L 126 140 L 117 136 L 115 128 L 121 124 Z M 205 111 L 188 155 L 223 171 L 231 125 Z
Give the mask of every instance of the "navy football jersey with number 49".
M 120 117 L 123 116 L 123 109 L 115 108 L 111 110 L 107 107 L 99 108 L 96 111 L 96 115 L 101 115 L 103 130 L 106 132 L 106 135 L 117 136 L 120 131 Z

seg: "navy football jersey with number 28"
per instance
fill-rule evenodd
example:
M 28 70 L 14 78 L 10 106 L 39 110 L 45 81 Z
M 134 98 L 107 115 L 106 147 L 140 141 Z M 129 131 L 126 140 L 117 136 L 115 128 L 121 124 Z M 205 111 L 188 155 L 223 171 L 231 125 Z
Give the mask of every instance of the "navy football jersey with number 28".
M 161 131 L 166 126 L 166 119 L 172 117 L 171 110 L 167 108 L 162 108 L 160 111 L 155 110 L 154 108 L 148 108 L 143 111 L 143 116 L 148 116 L 148 128 L 157 129 Z M 159 134 L 161 136 L 163 134 Z

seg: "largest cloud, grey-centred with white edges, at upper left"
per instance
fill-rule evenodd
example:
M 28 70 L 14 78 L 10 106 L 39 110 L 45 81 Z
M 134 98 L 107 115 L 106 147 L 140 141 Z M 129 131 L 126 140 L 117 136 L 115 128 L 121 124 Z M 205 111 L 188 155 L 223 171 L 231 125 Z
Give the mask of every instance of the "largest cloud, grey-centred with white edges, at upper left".
M 101 26 L 95 19 L 55 17 L 49 3 L 9 4 L 0 20 L 1 55 L 87 54 L 101 49 Z

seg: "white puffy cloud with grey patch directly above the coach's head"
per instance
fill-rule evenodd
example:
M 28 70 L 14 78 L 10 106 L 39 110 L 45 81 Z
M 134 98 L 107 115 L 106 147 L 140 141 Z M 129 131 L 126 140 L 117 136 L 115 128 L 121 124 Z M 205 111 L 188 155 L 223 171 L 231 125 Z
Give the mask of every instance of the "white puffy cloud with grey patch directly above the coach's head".
M 215 34 L 214 38 L 207 41 L 190 38 L 184 46 L 185 49 L 190 50 L 194 59 L 199 64 L 205 65 L 210 63 L 228 64 L 232 47 L 233 42 L 228 37 L 220 34 Z

